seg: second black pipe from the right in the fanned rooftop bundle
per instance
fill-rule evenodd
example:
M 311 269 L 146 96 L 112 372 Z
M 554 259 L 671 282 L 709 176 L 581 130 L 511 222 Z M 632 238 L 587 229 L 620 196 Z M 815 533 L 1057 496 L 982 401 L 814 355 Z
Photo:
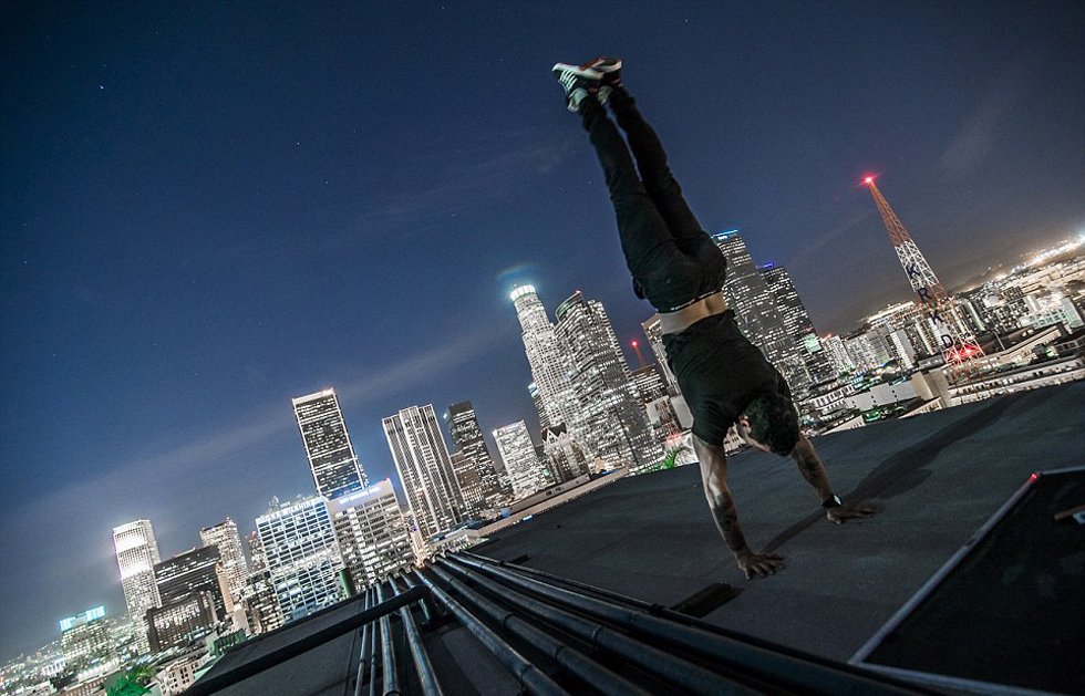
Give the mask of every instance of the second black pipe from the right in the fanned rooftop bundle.
M 467 578 L 502 600 L 566 631 L 600 650 L 617 655 L 650 674 L 699 696 L 760 696 L 764 692 L 748 688 L 732 679 L 695 665 L 682 657 L 671 655 L 658 647 L 631 638 L 596 621 L 578 616 L 557 606 L 526 596 L 475 570 L 440 560 L 438 564 L 448 571 Z M 437 568 L 434 569 L 438 570 Z M 441 570 L 444 572 L 444 570 Z M 462 584 L 462 583 L 461 583 Z

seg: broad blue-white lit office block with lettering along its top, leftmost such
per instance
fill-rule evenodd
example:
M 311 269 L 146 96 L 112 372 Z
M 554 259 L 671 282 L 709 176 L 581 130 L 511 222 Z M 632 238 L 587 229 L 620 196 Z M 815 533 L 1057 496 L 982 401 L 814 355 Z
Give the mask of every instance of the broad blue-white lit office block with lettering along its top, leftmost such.
M 323 498 L 301 500 L 256 519 L 271 584 L 286 621 L 340 600 L 343 559 Z

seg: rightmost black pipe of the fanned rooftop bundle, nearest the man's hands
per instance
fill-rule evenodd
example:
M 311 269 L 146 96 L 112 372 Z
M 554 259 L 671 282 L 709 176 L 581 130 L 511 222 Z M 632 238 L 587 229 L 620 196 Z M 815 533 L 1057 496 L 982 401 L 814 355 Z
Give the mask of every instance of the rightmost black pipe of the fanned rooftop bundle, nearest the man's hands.
M 737 674 L 748 674 L 769 684 L 784 685 L 803 694 L 824 696 L 913 696 L 926 694 L 903 684 L 882 679 L 819 662 L 802 659 L 768 647 L 753 645 L 701 629 L 682 625 L 621 606 L 607 600 L 578 594 L 527 578 L 496 563 L 455 557 L 455 561 L 498 578 L 562 606 L 589 614 L 629 630 L 633 635 L 662 641 L 716 661 Z

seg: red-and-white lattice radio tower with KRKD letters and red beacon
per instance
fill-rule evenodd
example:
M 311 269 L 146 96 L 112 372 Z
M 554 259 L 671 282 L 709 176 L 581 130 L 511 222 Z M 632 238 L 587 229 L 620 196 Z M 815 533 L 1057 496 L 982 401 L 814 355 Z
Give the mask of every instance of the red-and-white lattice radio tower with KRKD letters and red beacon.
M 870 195 L 874 196 L 878 212 L 881 214 L 881 219 L 889 231 L 892 248 L 897 252 L 897 258 L 900 259 L 905 274 L 908 276 L 908 282 L 919 297 L 919 302 L 927 312 L 927 319 L 941 342 L 942 356 L 946 359 L 946 363 L 964 367 L 974 365 L 975 361 L 983 356 L 983 349 L 980 347 L 969 325 L 961 320 L 953 299 L 934 276 L 930 263 L 927 262 L 919 247 L 912 241 L 911 235 L 905 229 L 900 218 L 897 217 L 885 196 L 878 190 L 874 177 L 868 176 L 862 183 L 870 188 Z

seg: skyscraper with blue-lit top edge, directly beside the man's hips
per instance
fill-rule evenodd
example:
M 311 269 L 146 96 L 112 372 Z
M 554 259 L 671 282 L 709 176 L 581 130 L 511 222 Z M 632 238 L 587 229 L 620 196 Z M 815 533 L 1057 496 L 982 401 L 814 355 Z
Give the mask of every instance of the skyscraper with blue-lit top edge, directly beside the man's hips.
M 713 235 L 712 239 L 727 259 L 723 293 L 735 312 L 738 329 L 765 353 L 793 389 L 809 383 L 798 346 L 788 335 L 776 299 L 757 271 L 742 235 L 733 229 Z

